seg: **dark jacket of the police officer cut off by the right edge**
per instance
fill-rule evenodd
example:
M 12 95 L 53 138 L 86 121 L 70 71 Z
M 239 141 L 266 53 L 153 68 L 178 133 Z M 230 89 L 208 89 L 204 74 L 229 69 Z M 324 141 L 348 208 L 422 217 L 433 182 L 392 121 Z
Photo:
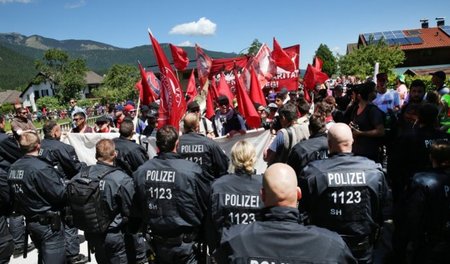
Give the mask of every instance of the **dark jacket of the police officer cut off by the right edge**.
M 450 246 L 450 169 L 416 173 L 404 206 L 405 221 L 399 226 L 403 242 L 446 241 Z

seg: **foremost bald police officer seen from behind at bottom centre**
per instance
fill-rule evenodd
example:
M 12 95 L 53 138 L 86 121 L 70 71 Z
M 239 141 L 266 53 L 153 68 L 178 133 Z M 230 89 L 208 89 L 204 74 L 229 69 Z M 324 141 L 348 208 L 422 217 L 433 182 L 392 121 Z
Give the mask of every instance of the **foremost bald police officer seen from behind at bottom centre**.
M 224 233 L 219 263 L 356 263 L 338 234 L 299 223 L 294 170 L 276 163 L 264 173 L 262 221 Z

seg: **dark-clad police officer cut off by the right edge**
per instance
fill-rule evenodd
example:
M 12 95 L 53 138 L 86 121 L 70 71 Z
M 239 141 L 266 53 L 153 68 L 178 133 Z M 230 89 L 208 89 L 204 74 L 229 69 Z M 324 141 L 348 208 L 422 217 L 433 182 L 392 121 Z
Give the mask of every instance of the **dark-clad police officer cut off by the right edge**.
M 411 263 L 450 263 L 450 143 L 430 147 L 433 168 L 416 173 L 402 203 L 394 252 Z M 409 252 L 406 252 L 406 248 Z

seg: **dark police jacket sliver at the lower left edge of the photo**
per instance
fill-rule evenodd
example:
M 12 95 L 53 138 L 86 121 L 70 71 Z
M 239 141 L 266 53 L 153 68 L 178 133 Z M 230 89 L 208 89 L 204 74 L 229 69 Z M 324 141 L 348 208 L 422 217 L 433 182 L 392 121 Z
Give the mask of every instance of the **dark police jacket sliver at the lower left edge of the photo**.
M 0 245 L 12 240 L 6 218 L 11 211 L 11 195 L 7 182 L 8 174 L 0 168 Z

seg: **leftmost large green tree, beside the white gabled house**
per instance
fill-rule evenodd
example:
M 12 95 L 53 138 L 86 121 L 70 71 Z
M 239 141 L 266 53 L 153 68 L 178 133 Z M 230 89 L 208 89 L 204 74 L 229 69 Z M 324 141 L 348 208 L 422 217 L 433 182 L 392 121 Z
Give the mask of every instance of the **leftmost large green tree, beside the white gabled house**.
M 70 98 L 79 98 L 81 90 L 86 87 L 87 67 L 83 59 L 71 60 L 66 52 L 58 49 L 47 50 L 40 61 L 36 61 L 35 67 L 55 85 L 56 96 L 61 103 Z M 38 77 L 33 82 L 41 83 L 45 78 Z

